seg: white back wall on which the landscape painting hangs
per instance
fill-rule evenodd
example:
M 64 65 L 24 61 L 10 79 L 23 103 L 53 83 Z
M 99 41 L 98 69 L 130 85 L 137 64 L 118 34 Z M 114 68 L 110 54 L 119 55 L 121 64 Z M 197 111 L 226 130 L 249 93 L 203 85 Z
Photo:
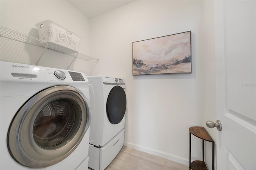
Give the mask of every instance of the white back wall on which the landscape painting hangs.
M 127 146 L 188 165 L 188 128 L 204 121 L 202 26 L 203 1 L 136 1 L 91 20 L 90 54 L 100 58 L 92 74 L 126 83 Z M 132 76 L 132 42 L 189 30 L 191 74 Z M 192 143 L 201 159 L 201 140 Z

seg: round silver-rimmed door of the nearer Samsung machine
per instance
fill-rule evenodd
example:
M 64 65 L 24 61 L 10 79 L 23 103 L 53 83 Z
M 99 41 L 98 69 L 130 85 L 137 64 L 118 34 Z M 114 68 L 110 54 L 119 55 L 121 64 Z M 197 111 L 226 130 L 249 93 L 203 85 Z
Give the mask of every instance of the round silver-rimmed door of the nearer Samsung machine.
M 31 97 L 16 113 L 8 150 L 20 164 L 43 168 L 70 155 L 90 125 L 89 102 L 70 86 L 55 86 Z

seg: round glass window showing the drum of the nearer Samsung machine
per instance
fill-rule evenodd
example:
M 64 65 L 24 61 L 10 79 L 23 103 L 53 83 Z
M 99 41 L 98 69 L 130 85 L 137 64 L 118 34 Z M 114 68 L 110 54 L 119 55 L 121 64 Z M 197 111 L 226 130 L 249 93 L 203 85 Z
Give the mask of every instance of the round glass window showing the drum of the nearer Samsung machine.
M 47 104 L 34 121 L 33 137 L 45 149 L 61 147 L 74 137 L 81 123 L 79 106 L 71 99 L 56 99 Z

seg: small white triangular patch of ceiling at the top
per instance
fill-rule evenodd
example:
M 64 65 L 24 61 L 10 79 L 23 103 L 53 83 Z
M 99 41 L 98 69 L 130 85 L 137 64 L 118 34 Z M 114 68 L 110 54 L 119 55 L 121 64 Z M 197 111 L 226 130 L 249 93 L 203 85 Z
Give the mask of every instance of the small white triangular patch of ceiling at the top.
M 68 0 L 75 8 L 88 18 L 100 16 L 134 0 Z

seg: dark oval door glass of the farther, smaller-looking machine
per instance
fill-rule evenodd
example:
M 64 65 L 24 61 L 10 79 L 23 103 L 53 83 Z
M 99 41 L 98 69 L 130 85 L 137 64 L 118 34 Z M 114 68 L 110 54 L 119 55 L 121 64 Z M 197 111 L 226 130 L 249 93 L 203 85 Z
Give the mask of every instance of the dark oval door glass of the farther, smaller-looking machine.
M 106 111 L 110 123 L 118 124 L 122 121 L 126 111 L 126 95 L 122 87 L 115 86 L 111 89 L 108 95 Z

